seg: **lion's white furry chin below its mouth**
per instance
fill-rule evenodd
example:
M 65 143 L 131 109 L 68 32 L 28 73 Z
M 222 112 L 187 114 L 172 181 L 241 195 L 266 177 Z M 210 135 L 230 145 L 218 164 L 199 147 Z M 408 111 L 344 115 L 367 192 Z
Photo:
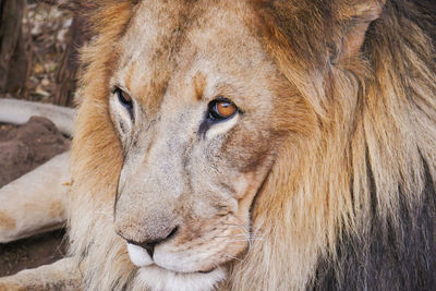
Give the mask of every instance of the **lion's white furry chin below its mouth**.
M 174 272 L 157 265 L 141 267 L 136 279 L 141 286 L 150 290 L 211 290 L 227 276 L 223 268 L 218 267 L 207 274 Z

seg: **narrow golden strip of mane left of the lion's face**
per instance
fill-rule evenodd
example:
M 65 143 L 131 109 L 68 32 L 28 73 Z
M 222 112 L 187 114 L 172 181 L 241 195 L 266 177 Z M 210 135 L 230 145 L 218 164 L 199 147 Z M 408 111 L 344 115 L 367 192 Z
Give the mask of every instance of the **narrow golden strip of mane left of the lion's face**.
M 101 267 L 98 271 L 84 274 L 84 286 L 89 290 L 112 290 L 129 281 L 133 265 L 125 256 L 123 245 L 116 247 L 116 235 L 106 235 L 106 230 L 113 228 L 113 218 L 105 214 L 112 214 L 113 204 L 105 204 L 105 201 L 113 199 L 122 165 L 106 96 L 117 58 L 117 40 L 131 19 L 133 1 L 108 0 L 98 4 L 88 15 L 90 32 L 98 37 L 82 49 L 82 75 L 76 92 L 81 110 L 75 121 L 71 158 L 74 187 L 70 199 L 69 252 L 77 258 L 80 266 L 99 264 Z M 108 253 L 98 245 L 114 247 Z M 101 259 L 111 264 L 100 264 Z

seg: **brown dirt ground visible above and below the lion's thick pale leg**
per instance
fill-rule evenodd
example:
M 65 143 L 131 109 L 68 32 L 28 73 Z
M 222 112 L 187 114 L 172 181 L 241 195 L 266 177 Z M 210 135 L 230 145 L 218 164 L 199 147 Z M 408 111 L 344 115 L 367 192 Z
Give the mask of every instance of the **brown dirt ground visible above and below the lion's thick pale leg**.
M 0 124 L 0 187 L 66 150 L 70 140 L 39 117 L 22 126 Z M 50 264 L 65 253 L 63 230 L 0 244 L 0 277 Z

